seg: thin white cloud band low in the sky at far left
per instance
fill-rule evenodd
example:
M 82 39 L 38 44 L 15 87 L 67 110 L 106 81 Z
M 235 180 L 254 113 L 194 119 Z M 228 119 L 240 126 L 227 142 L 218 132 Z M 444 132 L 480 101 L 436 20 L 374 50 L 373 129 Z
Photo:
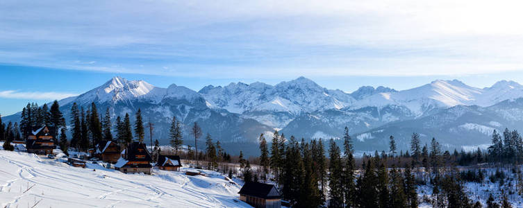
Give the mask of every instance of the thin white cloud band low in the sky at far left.
M 20 92 L 17 90 L 0 91 L 0 98 L 32 99 L 32 100 L 60 100 L 77 94 L 64 92 Z

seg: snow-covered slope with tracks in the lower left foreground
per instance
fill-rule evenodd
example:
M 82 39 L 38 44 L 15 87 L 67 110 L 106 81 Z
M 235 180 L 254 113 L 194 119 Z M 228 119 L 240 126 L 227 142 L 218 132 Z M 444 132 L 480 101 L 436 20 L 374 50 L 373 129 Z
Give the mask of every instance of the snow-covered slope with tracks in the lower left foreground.
M 183 167 L 124 174 L 5 150 L 0 167 L 0 207 L 250 207 L 238 200 L 241 187 L 214 171 L 188 176 L 185 171 L 193 169 Z

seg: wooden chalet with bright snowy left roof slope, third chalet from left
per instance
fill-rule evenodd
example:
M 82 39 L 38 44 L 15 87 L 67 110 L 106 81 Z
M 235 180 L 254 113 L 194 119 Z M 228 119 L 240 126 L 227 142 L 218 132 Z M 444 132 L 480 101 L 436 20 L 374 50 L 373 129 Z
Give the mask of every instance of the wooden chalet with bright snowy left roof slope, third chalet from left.
M 151 153 L 143 143 L 135 141 L 122 151 L 122 157 L 115 164 L 115 169 L 122 173 L 151 174 Z

